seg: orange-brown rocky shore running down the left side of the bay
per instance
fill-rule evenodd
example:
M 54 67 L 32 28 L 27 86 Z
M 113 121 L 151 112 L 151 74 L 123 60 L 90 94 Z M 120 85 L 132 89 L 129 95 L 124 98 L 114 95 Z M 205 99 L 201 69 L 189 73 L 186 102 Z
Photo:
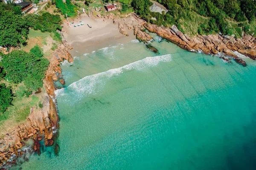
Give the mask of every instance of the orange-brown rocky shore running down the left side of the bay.
M 32 149 L 40 154 L 39 141 L 44 140 L 45 146 L 52 146 L 54 144 L 55 135 L 53 130 L 58 129 L 58 113 L 55 105 L 55 81 L 60 81 L 64 84 L 61 75 L 61 63 L 64 60 L 73 62 L 73 58 L 68 52 L 72 49 L 68 42 L 63 39 L 63 43 L 58 46 L 58 49 L 53 51 L 49 68 L 44 79 L 44 89 L 42 92 L 38 89 L 35 94 L 41 94 L 43 97 L 42 107 L 32 107 L 30 114 L 25 123 L 17 125 L 12 128 L 6 135 L 0 139 L 0 169 L 5 170 L 6 166 L 15 164 L 18 157 L 24 157 L 26 150 L 21 148 L 29 141 L 33 141 Z M 58 148 L 58 144 L 55 144 Z

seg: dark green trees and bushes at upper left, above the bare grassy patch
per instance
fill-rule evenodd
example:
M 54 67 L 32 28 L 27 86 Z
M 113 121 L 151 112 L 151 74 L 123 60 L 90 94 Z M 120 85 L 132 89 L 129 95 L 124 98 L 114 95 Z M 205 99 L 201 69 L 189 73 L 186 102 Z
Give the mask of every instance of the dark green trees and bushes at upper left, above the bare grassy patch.
M 0 3 L 0 45 L 20 46 L 25 44 L 29 27 L 42 32 L 61 30 L 61 17 L 44 12 L 40 15 L 21 16 L 20 7 Z M 57 34 L 56 34 L 57 35 Z

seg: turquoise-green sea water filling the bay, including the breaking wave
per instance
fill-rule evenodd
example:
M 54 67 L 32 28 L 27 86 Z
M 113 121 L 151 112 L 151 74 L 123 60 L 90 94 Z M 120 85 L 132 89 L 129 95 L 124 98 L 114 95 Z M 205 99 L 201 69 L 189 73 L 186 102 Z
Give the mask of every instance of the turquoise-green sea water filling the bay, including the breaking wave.
M 135 41 L 64 63 L 60 152 L 22 170 L 255 169 L 256 62 L 152 44 L 160 54 Z

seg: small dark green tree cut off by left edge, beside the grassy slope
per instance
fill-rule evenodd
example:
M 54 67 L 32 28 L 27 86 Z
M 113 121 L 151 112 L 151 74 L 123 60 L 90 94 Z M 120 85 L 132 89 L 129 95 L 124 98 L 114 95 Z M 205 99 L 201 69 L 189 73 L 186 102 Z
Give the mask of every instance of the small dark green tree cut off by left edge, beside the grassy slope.
M 12 96 L 11 88 L 7 88 L 5 84 L 0 84 L 0 116 L 12 104 Z

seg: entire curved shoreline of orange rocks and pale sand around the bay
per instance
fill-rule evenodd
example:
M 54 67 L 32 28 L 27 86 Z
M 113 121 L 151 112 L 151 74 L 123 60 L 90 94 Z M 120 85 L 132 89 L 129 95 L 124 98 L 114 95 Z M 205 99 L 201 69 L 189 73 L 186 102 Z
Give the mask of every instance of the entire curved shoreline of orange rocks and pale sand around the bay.
M 220 34 L 198 35 L 191 38 L 179 31 L 176 26 L 172 26 L 172 28 L 158 27 L 146 23 L 145 20 L 140 19 L 134 14 L 127 15 L 125 18 L 119 18 L 110 14 L 105 17 L 93 17 L 93 19 L 89 18 L 86 14 L 82 14 L 80 20 L 84 23 L 83 26 L 68 27 L 67 21 L 66 23 L 64 22 L 61 31 L 63 44 L 59 45 L 58 49 L 53 52 L 44 79 L 44 88 L 46 90 L 43 94 L 44 107 L 31 108 L 28 121 L 17 125 L 7 133 L 8 135 L 0 139 L 0 142 L 4 144 L 4 147 L 0 148 L 0 161 L 6 162 L 14 155 L 16 155 L 16 158 L 22 157 L 24 152 L 20 149 L 29 139 L 33 140 L 33 148 L 38 154 L 40 154 L 38 141 L 44 139 L 45 146 L 56 144 L 54 142 L 55 135 L 53 130 L 58 128 L 59 117 L 56 109 L 57 103 L 54 102 L 54 91 L 56 90 L 54 82 L 60 81 L 62 85 L 65 83 L 61 74 L 61 62 L 64 60 L 73 62 L 73 57 L 116 45 L 116 41 L 125 43 L 138 39 L 141 42 L 148 42 L 152 38 L 143 31 L 145 28 L 187 51 L 203 52 L 208 55 L 224 53 L 243 66 L 246 66 L 246 62 L 239 55 L 233 53 L 233 51 L 238 51 L 240 54 L 253 60 L 256 59 L 256 38 L 247 34 L 244 34 L 242 39 Z M 78 23 L 79 21 L 77 20 L 73 25 Z M 90 23 L 92 28 L 89 28 L 87 23 Z M 220 58 L 230 62 L 230 58 L 223 56 Z M 4 165 L 3 162 L 0 162 L 0 167 Z M 7 164 L 11 163 L 15 163 L 15 160 L 10 160 Z

